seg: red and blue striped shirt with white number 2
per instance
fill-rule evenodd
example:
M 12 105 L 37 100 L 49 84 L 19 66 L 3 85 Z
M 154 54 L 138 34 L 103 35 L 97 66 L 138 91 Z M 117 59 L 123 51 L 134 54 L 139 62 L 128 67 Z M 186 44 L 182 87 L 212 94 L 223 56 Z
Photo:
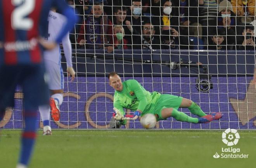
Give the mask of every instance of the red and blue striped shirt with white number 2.
M 48 29 L 51 7 L 67 17 L 67 23 L 56 38 L 60 42 L 74 27 L 76 17 L 62 0 L 0 0 L 0 65 L 39 64 L 42 48 L 37 39 Z

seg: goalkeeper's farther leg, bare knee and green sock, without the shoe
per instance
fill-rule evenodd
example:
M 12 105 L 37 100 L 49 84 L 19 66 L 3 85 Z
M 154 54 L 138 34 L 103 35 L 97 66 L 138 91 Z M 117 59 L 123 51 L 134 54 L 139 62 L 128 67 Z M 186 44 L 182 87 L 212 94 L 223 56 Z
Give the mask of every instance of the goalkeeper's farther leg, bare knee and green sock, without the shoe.
M 197 105 L 195 102 L 193 102 L 192 100 L 189 100 L 187 98 L 183 98 L 182 102 L 180 104 L 181 108 L 188 108 L 189 111 L 192 114 L 195 114 L 199 117 L 205 116 L 206 114 L 202 111 L 202 109 L 199 107 L 199 105 Z

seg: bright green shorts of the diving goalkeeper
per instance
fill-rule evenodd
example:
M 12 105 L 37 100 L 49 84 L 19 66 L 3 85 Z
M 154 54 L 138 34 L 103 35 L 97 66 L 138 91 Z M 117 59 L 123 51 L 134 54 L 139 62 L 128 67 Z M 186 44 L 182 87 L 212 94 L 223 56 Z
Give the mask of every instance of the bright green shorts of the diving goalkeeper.
M 165 108 L 173 108 L 178 110 L 182 102 L 183 97 L 163 94 L 157 100 L 156 106 L 153 110 L 150 110 L 150 113 L 156 115 L 157 121 L 166 120 L 162 118 L 161 111 Z

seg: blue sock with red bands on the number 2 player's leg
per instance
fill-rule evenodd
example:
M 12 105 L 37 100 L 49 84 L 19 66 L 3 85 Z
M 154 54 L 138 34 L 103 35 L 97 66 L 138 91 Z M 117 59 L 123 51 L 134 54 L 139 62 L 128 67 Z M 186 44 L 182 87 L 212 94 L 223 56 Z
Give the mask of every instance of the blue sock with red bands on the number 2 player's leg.
M 19 163 L 28 165 L 36 139 L 36 111 L 25 111 L 25 129 L 21 137 L 21 153 Z

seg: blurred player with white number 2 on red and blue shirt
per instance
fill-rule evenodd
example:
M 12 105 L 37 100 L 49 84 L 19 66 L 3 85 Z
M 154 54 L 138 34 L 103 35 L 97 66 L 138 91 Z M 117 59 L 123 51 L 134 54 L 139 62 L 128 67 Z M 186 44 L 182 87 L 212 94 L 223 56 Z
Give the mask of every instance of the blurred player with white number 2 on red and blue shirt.
M 57 8 L 67 22 L 55 41 L 38 39 L 47 33 L 47 17 Z M 13 107 L 16 85 L 24 93 L 25 128 L 17 168 L 26 168 L 36 137 L 36 111 L 49 104 L 42 46 L 52 49 L 74 27 L 76 17 L 63 0 L 0 0 L 0 120 L 6 107 Z M 40 44 L 42 43 L 42 44 Z

